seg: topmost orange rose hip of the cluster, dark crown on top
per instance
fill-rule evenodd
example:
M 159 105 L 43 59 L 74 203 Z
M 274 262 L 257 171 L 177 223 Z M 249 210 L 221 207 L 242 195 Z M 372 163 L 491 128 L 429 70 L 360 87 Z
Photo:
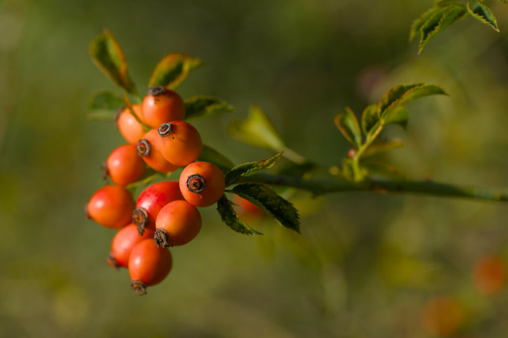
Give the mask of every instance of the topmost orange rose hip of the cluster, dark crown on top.
M 143 99 L 143 122 L 158 128 L 165 122 L 183 120 L 185 104 L 180 95 L 162 86 L 150 87 Z

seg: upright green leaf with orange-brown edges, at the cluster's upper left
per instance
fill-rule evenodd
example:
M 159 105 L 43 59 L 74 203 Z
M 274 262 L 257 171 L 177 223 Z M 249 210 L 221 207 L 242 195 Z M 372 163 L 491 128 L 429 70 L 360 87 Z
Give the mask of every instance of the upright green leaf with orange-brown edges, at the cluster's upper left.
M 127 70 L 125 55 L 113 34 L 106 30 L 90 43 L 90 56 L 97 66 L 119 87 L 137 94 L 136 85 Z

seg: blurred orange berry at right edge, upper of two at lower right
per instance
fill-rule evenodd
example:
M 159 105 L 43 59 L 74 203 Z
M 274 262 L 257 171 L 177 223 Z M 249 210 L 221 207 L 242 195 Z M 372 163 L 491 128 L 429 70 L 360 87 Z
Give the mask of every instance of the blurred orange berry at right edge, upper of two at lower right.
M 486 294 L 499 292 L 506 280 L 506 269 L 501 258 L 487 256 L 480 259 L 474 266 L 473 283 L 477 289 Z

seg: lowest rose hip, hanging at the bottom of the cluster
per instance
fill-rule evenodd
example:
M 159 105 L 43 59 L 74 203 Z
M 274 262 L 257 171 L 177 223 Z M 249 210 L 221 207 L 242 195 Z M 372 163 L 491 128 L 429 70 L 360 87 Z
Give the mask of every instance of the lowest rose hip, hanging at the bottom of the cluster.
M 145 239 L 134 246 L 129 257 L 131 288 L 139 295 L 146 287 L 158 284 L 166 278 L 173 266 L 171 252 L 159 248 L 153 239 Z

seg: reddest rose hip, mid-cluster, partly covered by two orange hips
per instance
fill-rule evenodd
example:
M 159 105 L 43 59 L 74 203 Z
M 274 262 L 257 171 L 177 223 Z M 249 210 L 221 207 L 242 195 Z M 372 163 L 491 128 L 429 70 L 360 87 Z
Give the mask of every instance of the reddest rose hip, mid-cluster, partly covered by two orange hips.
M 162 181 L 147 186 L 139 194 L 132 214 L 133 223 L 138 226 L 140 234 L 148 227 L 155 230 L 155 219 L 159 211 L 176 200 L 183 200 L 178 181 Z

